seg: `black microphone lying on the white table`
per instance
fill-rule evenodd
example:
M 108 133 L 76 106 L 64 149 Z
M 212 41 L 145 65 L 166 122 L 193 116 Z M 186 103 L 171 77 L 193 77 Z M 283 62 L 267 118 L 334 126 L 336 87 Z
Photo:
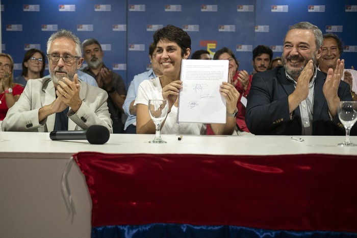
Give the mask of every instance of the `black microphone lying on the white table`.
M 109 140 L 110 132 L 107 127 L 92 125 L 84 131 L 52 131 L 49 138 L 52 140 L 86 139 L 90 144 L 102 145 Z

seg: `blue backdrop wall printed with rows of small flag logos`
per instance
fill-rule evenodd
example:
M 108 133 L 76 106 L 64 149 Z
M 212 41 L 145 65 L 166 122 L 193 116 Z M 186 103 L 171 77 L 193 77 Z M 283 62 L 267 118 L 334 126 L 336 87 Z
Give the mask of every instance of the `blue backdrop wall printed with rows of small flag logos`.
M 187 31 L 192 52 L 214 42 L 213 53 L 229 47 L 239 68 L 252 72 L 254 47 L 266 44 L 274 57 L 281 56 L 289 26 L 310 21 L 322 33 L 332 29 L 349 46 L 342 56 L 346 68 L 357 65 L 355 0 L 3 0 L 1 4 L 2 49 L 14 58 L 15 76 L 21 73 L 26 50 L 35 46 L 45 52 L 50 34 L 65 28 L 81 41 L 96 38 L 104 47 L 104 63 L 129 87 L 134 75 L 150 67 L 148 46 L 155 30 L 168 24 Z

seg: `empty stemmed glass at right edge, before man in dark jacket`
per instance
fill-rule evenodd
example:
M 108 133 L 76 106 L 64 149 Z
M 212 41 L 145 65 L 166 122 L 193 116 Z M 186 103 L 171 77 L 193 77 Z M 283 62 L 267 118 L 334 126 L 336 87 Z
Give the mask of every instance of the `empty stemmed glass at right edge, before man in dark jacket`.
M 349 132 L 353 124 L 357 121 L 357 102 L 340 102 L 337 108 L 337 113 L 341 123 L 346 129 L 346 139 L 339 146 L 357 146 L 349 140 Z

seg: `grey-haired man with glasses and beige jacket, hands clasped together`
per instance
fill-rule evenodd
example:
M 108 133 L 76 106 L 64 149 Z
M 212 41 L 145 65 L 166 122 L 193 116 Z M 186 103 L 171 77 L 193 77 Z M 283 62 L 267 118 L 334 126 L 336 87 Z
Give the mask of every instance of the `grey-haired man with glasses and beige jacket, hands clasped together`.
M 107 92 L 78 79 L 81 56 L 81 41 L 72 32 L 52 34 L 47 41 L 51 78 L 28 81 L 18 102 L 8 111 L 3 131 L 86 130 L 102 125 L 112 132 Z

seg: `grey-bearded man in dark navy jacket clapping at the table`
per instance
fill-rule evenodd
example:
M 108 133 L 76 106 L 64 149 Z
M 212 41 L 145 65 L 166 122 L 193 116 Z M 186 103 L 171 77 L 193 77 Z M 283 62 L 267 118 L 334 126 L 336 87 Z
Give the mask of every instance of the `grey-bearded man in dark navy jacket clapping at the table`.
M 351 101 L 340 81 L 344 60 L 327 75 L 316 68 L 322 33 L 310 22 L 292 26 L 284 39 L 283 66 L 253 76 L 245 122 L 257 135 L 344 135 L 337 114 L 340 101 Z M 351 133 L 355 133 L 357 127 Z

